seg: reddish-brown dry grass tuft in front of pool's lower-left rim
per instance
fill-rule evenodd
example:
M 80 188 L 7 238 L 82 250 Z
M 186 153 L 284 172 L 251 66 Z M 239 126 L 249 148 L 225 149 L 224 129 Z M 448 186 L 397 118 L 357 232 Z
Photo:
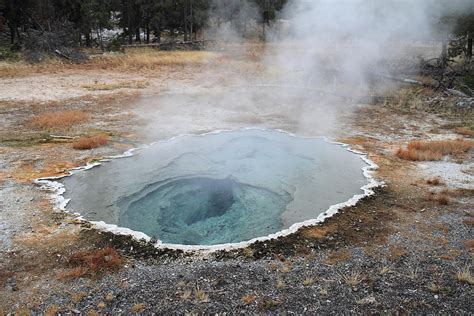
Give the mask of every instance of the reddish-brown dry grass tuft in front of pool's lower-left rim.
M 60 274 L 58 279 L 73 279 L 105 271 L 117 271 L 122 266 L 123 259 L 114 248 L 107 247 L 75 253 L 69 258 L 68 263 L 75 267 Z

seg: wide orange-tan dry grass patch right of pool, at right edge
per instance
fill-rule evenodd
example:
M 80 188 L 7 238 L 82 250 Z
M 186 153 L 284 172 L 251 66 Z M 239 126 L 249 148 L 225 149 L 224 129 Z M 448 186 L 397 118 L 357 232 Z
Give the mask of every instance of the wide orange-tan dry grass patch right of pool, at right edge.
M 474 147 L 474 142 L 464 139 L 411 141 L 407 148 L 398 148 L 397 157 L 412 161 L 441 160 L 445 155 L 458 155 Z

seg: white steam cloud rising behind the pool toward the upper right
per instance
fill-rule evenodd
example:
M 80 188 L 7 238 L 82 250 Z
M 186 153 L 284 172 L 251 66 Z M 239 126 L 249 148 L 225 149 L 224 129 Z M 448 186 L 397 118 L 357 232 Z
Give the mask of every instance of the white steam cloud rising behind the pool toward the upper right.
M 241 59 L 249 33 L 261 31 L 257 8 L 241 0 L 215 4 L 207 38 L 227 42 L 228 55 Z M 449 33 L 440 17 L 460 12 L 474 12 L 474 1 L 290 0 L 266 28 L 257 73 L 211 62 L 200 82 L 221 75 L 230 89 L 210 84 L 199 96 L 160 99 L 160 111 L 171 113 L 185 102 L 182 108 L 192 112 L 192 124 L 182 113 L 161 125 L 161 113 L 146 115 L 160 130 L 175 128 L 171 135 L 248 126 L 334 135 L 341 129 L 341 114 L 397 84 L 387 78 L 413 76 L 420 58 L 438 57 Z M 229 16 L 232 22 L 221 19 Z

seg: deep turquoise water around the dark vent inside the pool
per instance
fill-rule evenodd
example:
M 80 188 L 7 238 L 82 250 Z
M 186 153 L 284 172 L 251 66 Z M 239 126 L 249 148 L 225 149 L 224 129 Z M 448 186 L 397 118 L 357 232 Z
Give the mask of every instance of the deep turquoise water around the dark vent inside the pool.
M 124 200 L 119 226 L 168 243 L 213 245 L 281 229 L 279 215 L 291 196 L 229 178 L 196 177 L 158 183 L 141 198 Z

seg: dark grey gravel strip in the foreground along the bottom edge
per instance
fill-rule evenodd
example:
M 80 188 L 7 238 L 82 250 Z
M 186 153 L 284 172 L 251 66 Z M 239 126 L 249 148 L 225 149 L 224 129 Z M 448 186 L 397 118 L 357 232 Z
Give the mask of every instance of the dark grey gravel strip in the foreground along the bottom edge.
M 470 233 L 463 229 L 455 237 L 468 238 Z M 324 255 L 317 252 L 284 262 L 270 258 L 185 258 L 157 264 L 130 260 L 122 272 L 104 277 L 99 287 L 87 280 L 68 282 L 69 292 L 86 293 L 79 302 L 71 294 L 57 293 L 37 311 L 53 304 L 61 306 L 61 312 L 110 314 L 130 313 L 142 306 L 137 304 L 143 304 L 146 314 L 469 314 L 473 310 L 471 286 L 453 278 L 463 268 L 458 265 L 470 261 L 469 256 L 452 262 L 437 258 L 436 253 L 425 256 L 414 250 L 396 260 L 368 256 L 363 248 L 349 253 L 347 261 L 335 265 L 324 264 Z

